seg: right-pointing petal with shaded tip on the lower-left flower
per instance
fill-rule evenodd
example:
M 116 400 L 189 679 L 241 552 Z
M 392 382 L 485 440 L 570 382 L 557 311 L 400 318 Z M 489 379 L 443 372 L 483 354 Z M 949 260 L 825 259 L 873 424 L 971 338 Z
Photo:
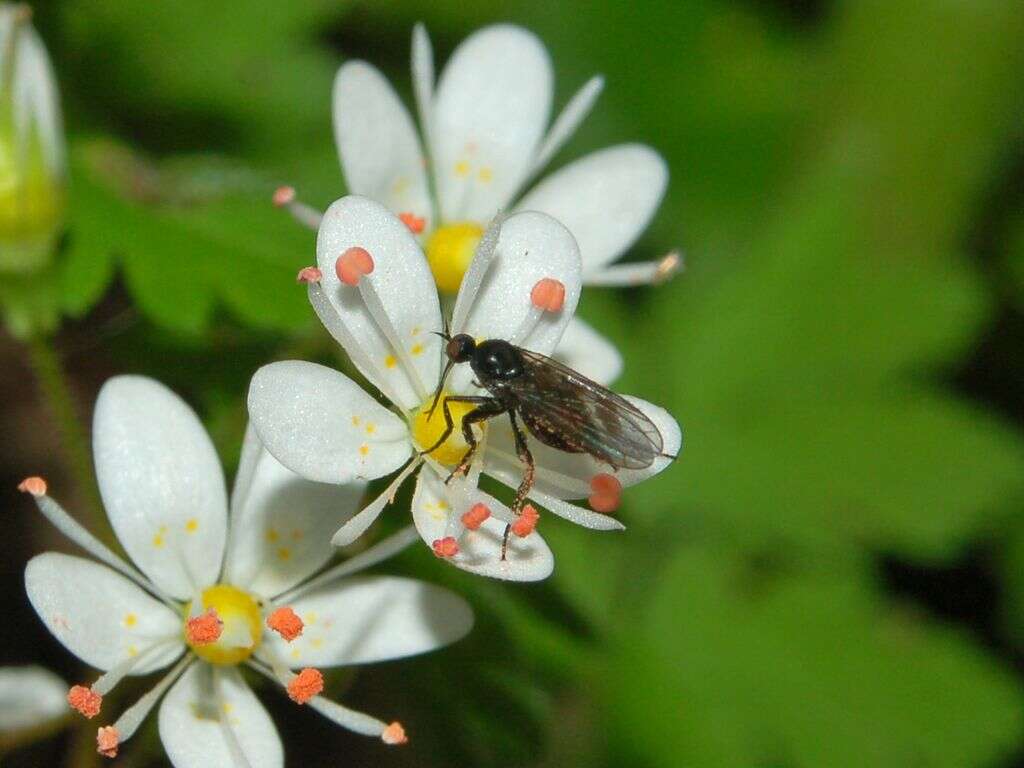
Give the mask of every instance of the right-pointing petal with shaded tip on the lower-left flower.
M 462 638 L 473 611 L 440 587 L 394 577 L 352 577 L 292 604 L 305 627 L 286 643 L 266 637 L 291 667 L 372 664 L 425 653 Z

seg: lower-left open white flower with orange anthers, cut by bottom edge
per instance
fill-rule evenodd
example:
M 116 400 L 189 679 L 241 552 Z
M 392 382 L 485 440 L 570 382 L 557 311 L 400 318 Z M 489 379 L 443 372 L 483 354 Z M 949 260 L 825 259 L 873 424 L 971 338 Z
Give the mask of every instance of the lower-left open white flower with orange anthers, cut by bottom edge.
M 243 664 L 339 725 L 388 743 L 404 740 L 397 723 L 316 695 L 323 686 L 316 668 L 422 653 L 469 631 L 468 605 L 445 590 L 409 579 L 352 578 L 414 541 L 411 528 L 305 581 L 332 554 L 325 526 L 339 511 L 355 509 L 361 483 L 303 480 L 274 461 L 250 429 L 228 525 L 213 444 L 193 411 L 163 385 L 131 376 L 109 381 L 93 433 L 103 502 L 137 569 L 46 496 L 41 478 L 20 487 L 105 563 L 48 552 L 26 568 L 29 599 L 46 627 L 82 660 L 105 671 L 91 686 L 73 687 L 69 702 L 94 716 L 124 676 L 173 665 L 112 726 L 99 729 L 102 754 L 116 754 L 167 692 L 160 735 L 178 768 L 284 765 L 281 739 L 243 680 Z

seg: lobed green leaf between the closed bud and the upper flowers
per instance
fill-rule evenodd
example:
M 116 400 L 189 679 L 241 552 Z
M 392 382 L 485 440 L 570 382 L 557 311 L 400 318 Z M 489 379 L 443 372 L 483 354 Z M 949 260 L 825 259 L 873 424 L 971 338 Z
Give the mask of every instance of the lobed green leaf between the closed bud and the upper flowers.
M 269 204 L 272 185 L 218 159 L 152 163 L 106 140 L 78 142 L 62 286 L 81 313 L 123 270 L 139 308 L 169 330 L 197 334 L 220 305 L 254 328 L 308 325 L 299 268 L 313 236 Z

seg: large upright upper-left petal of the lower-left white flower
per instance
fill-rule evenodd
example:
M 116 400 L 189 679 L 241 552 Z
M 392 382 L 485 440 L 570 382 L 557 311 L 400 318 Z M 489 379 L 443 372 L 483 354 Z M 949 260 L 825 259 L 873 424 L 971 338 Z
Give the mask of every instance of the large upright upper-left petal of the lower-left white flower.
M 180 599 L 216 581 L 227 493 L 193 410 L 153 379 L 118 376 L 99 391 L 92 440 L 106 513 L 139 568 Z

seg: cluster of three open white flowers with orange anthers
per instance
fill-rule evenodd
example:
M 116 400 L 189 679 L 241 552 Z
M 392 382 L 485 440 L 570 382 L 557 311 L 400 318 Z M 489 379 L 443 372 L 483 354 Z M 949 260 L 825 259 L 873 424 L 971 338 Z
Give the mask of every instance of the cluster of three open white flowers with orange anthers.
M 536 185 L 509 215 L 498 213 L 573 132 L 600 79 L 584 86 L 545 135 L 552 76 L 529 33 L 508 26 L 476 33 L 436 90 L 420 28 L 413 60 L 429 163 L 384 79 L 349 62 L 335 85 L 335 122 L 349 185 L 359 195 L 323 215 L 290 193 L 279 196 L 318 228 L 316 265 L 299 273 L 313 309 L 387 402 L 322 366 L 265 366 L 252 379 L 251 423 L 228 496 L 188 406 L 151 379 L 112 379 L 96 402 L 93 447 L 103 504 L 131 562 L 65 512 L 42 478 L 22 483 L 50 522 L 100 561 L 46 553 L 26 570 L 29 599 L 46 627 L 102 671 L 91 684 L 73 686 L 69 703 L 96 717 L 126 676 L 165 670 L 98 729 L 103 755 L 117 755 L 159 702 L 161 738 L 175 766 L 282 766 L 281 739 L 242 667 L 342 726 L 403 742 L 397 721 L 323 696 L 319 670 L 441 647 L 469 632 L 473 614 L 446 590 L 361 571 L 423 541 L 463 570 L 545 579 L 554 557 L 537 530 L 537 507 L 589 528 L 621 529 L 609 513 L 624 487 L 662 471 L 679 452 L 672 416 L 628 397 L 659 435 L 648 466 L 609 467 L 590 453 L 532 440 L 532 483 L 506 505 L 479 487 L 481 475 L 513 488 L 523 477 L 513 425 L 496 419 L 469 434 L 479 450 L 463 472 L 453 471 L 468 451 L 467 435 L 445 435 L 435 406 L 439 398 L 461 423 L 473 409 L 467 397 L 479 401 L 485 389 L 468 366 L 442 381 L 441 329 L 560 353 L 608 382 L 621 357 L 573 321 L 582 287 L 653 281 L 676 262 L 607 266 L 664 193 L 664 163 L 647 147 L 584 158 Z M 458 291 L 450 322 L 439 290 Z M 414 524 L 330 566 L 333 546 L 356 542 L 413 474 Z M 391 475 L 360 509 L 367 483 Z

